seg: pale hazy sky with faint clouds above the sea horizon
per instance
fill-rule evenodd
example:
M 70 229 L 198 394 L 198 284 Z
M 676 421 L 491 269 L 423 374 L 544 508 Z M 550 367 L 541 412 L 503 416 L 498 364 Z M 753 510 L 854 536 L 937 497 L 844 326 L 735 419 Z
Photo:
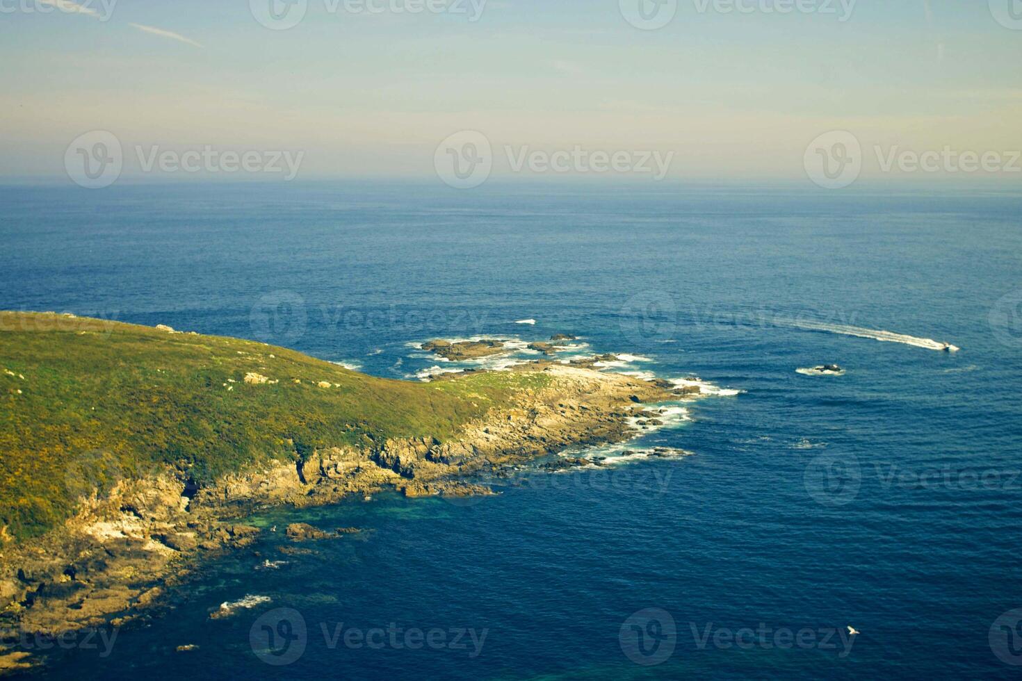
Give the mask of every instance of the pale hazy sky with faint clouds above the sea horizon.
M 618 0 L 308 0 L 275 31 L 261 1 L 0 0 L 0 174 L 66 179 L 92 130 L 126 148 L 300 150 L 306 178 L 435 178 L 462 130 L 496 156 L 672 152 L 670 177 L 707 180 L 804 178 L 806 145 L 833 130 L 871 150 L 1022 149 L 1022 30 L 1000 0 L 678 0 L 655 31 Z

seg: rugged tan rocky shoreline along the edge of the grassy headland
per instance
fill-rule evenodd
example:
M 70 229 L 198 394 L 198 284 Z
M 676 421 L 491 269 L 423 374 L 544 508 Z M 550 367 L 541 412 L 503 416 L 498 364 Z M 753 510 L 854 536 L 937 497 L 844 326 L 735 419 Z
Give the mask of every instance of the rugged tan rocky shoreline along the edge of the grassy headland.
M 446 442 L 431 437 L 316 450 L 266 463 L 193 489 L 173 472 L 121 481 L 57 531 L 0 554 L 0 673 L 38 663 L 18 637 L 118 627 L 166 600 L 201 561 L 254 541 L 236 522 L 260 507 L 305 507 L 393 489 L 407 496 L 492 493 L 471 482 L 504 467 L 577 445 L 620 442 L 643 403 L 677 399 L 669 383 L 587 367 L 535 362 L 549 377 L 508 408 Z M 298 532 L 299 530 L 295 530 Z

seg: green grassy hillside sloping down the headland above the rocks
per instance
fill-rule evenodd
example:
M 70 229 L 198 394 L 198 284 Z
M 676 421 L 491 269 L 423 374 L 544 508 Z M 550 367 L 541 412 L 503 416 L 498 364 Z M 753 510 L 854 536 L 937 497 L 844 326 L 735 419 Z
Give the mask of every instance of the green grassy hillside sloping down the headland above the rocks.
M 250 373 L 276 383 L 246 383 Z M 202 484 L 370 437 L 443 440 L 543 381 L 390 381 L 239 339 L 0 312 L 0 528 L 39 534 L 83 492 L 164 464 Z

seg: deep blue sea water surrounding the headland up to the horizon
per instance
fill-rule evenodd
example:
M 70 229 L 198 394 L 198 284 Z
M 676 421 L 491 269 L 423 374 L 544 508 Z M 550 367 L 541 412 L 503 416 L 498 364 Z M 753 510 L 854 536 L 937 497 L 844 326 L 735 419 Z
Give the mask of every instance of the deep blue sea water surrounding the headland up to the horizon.
M 641 443 L 689 457 L 257 517 L 368 531 L 292 556 L 268 531 L 56 677 L 1022 670 L 1022 195 L 20 187 L 0 189 L 0 308 L 253 338 L 412 380 L 436 363 L 414 342 L 566 332 L 653 360 L 617 371 L 743 391 Z M 846 374 L 796 373 L 824 362 Z M 258 570 L 268 558 L 288 563 Z M 269 601 L 208 619 L 246 595 Z M 850 646 L 834 633 L 849 625 Z

